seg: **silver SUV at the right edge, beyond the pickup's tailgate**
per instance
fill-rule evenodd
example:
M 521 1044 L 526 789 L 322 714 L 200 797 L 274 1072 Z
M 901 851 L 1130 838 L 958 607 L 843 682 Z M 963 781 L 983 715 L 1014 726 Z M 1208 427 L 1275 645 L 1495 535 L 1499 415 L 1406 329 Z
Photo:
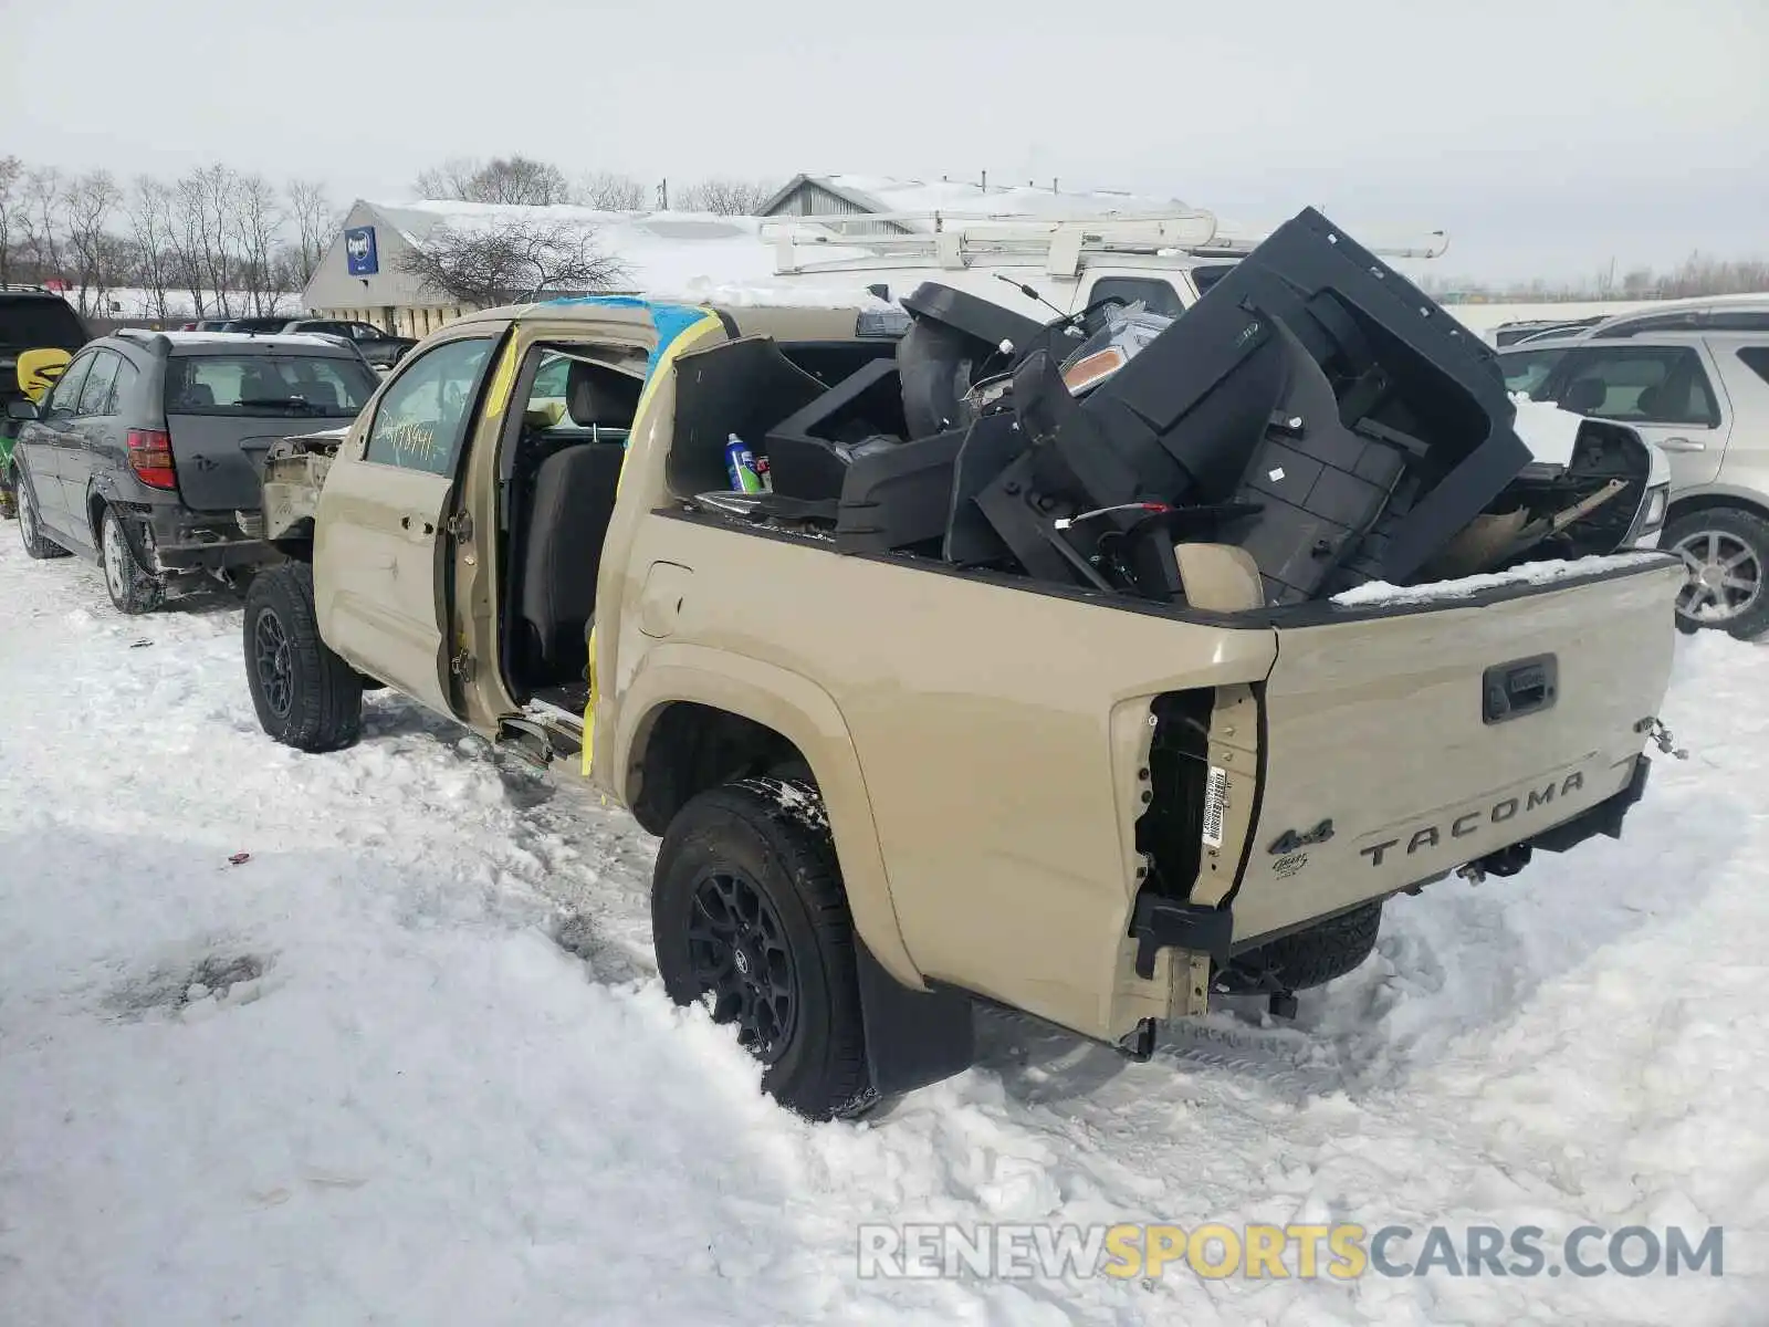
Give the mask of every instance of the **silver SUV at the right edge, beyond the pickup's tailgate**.
M 1689 326 L 1698 301 L 1679 304 L 1498 357 L 1511 391 L 1624 423 L 1668 455 L 1659 547 L 1689 568 L 1677 625 L 1755 640 L 1769 632 L 1769 297 L 1755 329 L 1746 301 L 1714 301 L 1725 313 L 1709 313 L 1705 331 L 1665 331 L 1666 318 Z

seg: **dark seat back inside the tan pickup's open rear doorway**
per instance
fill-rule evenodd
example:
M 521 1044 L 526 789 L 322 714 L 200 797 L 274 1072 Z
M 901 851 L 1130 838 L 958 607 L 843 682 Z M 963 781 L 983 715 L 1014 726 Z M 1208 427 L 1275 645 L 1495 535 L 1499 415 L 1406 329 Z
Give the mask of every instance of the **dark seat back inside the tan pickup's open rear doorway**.
M 619 444 L 589 442 L 555 451 L 534 471 L 520 605 L 547 672 L 536 685 L 577 676 L 589 662 L 584 626 L 596 610 L 601 541 L 624 455 Z

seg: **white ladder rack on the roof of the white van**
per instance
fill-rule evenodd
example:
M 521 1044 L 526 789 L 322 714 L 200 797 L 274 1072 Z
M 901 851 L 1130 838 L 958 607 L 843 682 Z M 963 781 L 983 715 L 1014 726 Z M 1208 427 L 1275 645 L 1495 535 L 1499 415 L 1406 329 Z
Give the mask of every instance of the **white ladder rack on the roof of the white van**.
M 893 234 L 872 230 L 895 225 Z M 849 226 L 867 226 L 856 232 Z M 915 228 L 909 228 L 915 226 Z M 764 218 L 762 239 L 775 242 L 775 274 L 867 271 L 881 265 L 945 269 L 1042 262 L 1047 276 L 1076 280 L 1086 257 L 1162 255 L 1187 260 L 1244 258 L 1265 234 L 1231 234 L 1215 214 L 1194 209 L 1104 216 L 1003 216 L 982 212 L 840 212 Z M 819 246 L 862 249 L 858 257 L 805 258 Z M 1436 258 L 1449 235 L 1431 232 L 1422 244 L 1373 248 L 1383 258 Z

